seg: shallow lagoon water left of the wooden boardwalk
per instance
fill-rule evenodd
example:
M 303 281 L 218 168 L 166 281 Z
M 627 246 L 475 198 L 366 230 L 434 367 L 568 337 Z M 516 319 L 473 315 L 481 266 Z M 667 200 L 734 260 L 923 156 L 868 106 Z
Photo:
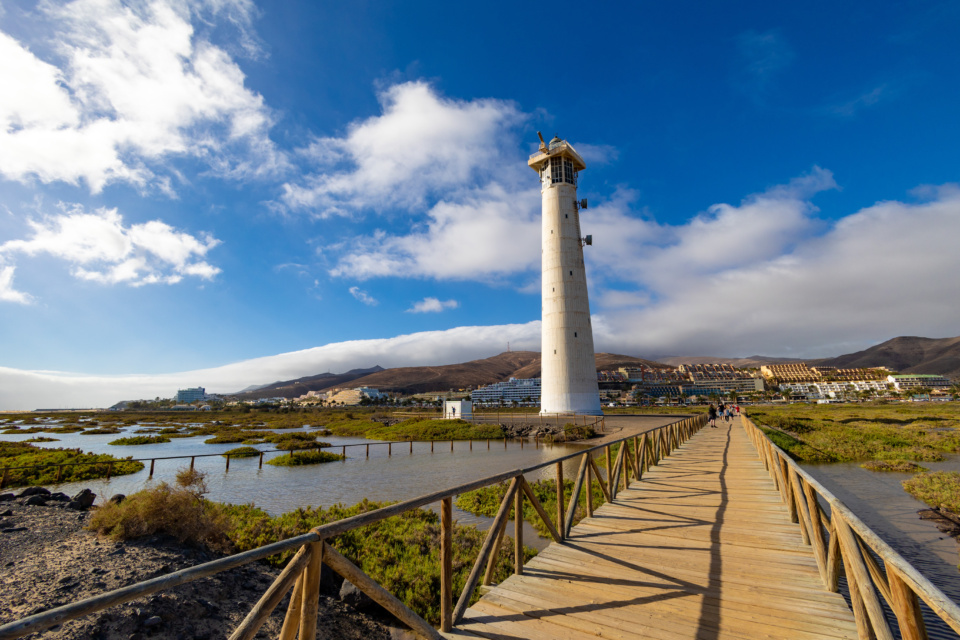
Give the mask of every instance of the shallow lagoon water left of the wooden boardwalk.
M 79 433 L 36 433 L 23 435 L 4 435 L 6 440 L 26 440 L 37 436 L 59 438 L 59 442 L 36 443 L 39 447 L 79 447 L 91 453 L 109 453 L 117 457 L 132 456 L 136 459 L 162 458 L 167 456 L 191 456 L 201 454 L 219 454 L 236 448 L 238 444 L 204 444 L 211 436 L 191 438 L 172 438 L 162 444 L 117 446 L 108 444 L 117 438 L 134 435 L 134 431 L 145 425 L 127 427 L 120 434 L 81 435 Z M 296 429 L 283 429 L 287 433 Z M 307 431 L 310 431 L 307 429 Z M 151 434 L 144 434 L 151 435 Z M 264 463 L 259 469 L 257 457 L 232 458 L 230 470 L 226 471 L 226 459 L 220 456 L 197 458 L 195 467 L 207 473 L 210 492 L 207 497 L 217 502 L 234 504 L 253 503 L 271 515 L 279 515 L 298 507 L 322 506 L 334 504 L 353 505 L 364 498 L 370 500 L 400 501 L 415 498 L 426 493 L 456 486 L 472 480 L 495 475 L 504 471 L 530 467 L 582 448 L 571 444 L 544 444 L 536 446 L 526 441 L 521 446 L 519 440 L 491 440 L 487 449 L 486 440 L 455 441 L 453 451 L 450 441 L 436 441 L 434 451 L 430 451 L 430 442 L 414 442 L 413 452 L 409 443 L 394 444 L 392 455 L 388 455 L 385 442 L 367 440 L 359 437 L 322 436 L 324 442 L 333 445 L 327 451 L 340 453 L 343 445 L 369 444 L 370 457 L 366 457 L 366 447 L 347 447 L 347 459 L 342 462 L 328 462 L 303 467 L 274 467 Z M 260 450 L 272 450 L 272 444 L 256 445 Z M 279 454 L 274 454 L 279 455 Z M 267 458 L 269 459 L 269 458 Z M 154 481 L 172 481 L 178 469 L 189 466 L 189 459 L 157 460 L 154 468 Z M 72 494 L 88 487 L 100 496 L 101 500 L 122 493 L 130 494 L 146 486 L 149 480 L 149 460 L 145 468 L 135 474 L 116 476 L 109 481 L 86 480 L 64 483 L 57 490 Z M 564 477 L 573 478 L 578 462 L 564 464 Z M 553 466 L 527 474 L 528 481 L 540 478 L 554 478 Z M 439 510 L 439 504 L 431 505 Z M 475 516 L 454 508 L 454 518 L 465 525 L 475 525 L 486 530 L 491 518 Z M 513 524 L 508 528 L 513 531 Z M 533 527 L 524 523 L 524 543 L 538 549 L 544 548 L 549 541 L 539 538 Z

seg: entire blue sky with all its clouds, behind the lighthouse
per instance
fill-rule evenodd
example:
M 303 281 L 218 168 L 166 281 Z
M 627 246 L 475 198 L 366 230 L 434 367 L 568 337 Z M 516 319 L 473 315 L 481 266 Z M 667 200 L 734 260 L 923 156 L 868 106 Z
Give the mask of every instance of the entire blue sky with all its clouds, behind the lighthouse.
M 958 23 L 957 2 L 4 3 L 0 408 L 538 349 L 538 130 L 587 161 L 600 349 L 958 335 Z

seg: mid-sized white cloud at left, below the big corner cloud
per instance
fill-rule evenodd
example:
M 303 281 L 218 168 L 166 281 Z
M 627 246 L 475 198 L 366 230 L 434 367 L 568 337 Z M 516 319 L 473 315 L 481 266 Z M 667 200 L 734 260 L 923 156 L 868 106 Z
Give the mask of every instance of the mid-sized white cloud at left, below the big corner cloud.
M 159 220 L 124 226 L 116 209 L 87 213 L 80 205 L 28 222 L 32 236 L 0 245 L 0 257 L 51 255 L 75 277 L 104 284 L 174 284 L 184 276 L 210 280 L 220 269 L 203 261 L 216 238 L 177 231 Z M 10 273 L 12 277 L 12 271 Z

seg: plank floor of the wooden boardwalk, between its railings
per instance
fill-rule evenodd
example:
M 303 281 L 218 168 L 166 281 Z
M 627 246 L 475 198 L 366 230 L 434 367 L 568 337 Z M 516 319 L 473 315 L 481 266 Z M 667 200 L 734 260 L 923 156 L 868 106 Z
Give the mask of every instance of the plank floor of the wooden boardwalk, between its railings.
M 706 427 L 447 637 L 857 638 L 736 419 Z

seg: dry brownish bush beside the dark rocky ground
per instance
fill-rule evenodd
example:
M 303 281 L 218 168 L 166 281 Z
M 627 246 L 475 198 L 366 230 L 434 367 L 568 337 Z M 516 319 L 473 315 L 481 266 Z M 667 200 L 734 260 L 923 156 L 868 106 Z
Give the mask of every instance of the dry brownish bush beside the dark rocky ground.
M 203 498 L 205 475 L 196 470 L 177 472 L 176 485 L 161 482 L 127 496 L 119 504 L 108 502 L 94 512 L 87 528 L 114 540 L 166 534 L 180 542 L 203 544 L 228 551 L 229 521 Z

